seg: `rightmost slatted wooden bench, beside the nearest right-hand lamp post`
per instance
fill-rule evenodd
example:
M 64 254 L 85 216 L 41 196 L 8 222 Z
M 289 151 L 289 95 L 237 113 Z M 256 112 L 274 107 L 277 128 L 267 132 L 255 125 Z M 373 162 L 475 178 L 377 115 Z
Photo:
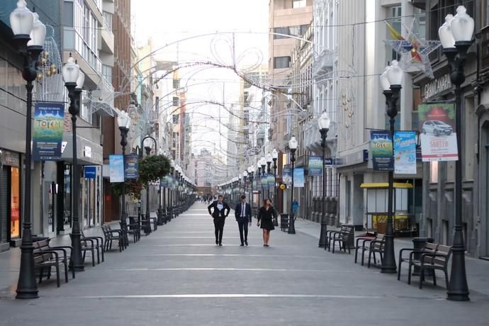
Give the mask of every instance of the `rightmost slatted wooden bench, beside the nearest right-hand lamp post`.
M 426 270 L 433 271 L 433 285 L 437 286 L 437 276 L 434 271 L 438 269 L 444 272 L 446 288 L 448 289 L 448 262 L 451 257 L 451 251 L 452 247 L 427 242 L 424 249 L 411 252 L 409 259 L 408 284 L 411 283 L 412 266 L 418 266 L 420 267 L 420 288 L 422 288 L 423 282 L 425 281 Z M 415 253 L 420 254 L 420 260 L 414 259 Z

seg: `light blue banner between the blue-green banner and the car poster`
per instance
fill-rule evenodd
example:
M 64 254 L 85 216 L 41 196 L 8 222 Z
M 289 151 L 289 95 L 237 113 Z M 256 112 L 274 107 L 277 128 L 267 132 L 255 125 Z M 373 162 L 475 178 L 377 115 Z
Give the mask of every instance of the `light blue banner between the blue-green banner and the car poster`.
M 394 172 L 416 174 L 416 133 L 396 131 L 394 133 Z

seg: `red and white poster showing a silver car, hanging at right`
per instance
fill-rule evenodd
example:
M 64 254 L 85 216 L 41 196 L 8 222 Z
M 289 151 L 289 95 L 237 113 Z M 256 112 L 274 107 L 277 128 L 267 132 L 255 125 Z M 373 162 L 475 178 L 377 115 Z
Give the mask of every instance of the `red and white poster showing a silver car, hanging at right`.
M 456 161 L 455 104 L 423 103 L 418 106 L 423 162 Z

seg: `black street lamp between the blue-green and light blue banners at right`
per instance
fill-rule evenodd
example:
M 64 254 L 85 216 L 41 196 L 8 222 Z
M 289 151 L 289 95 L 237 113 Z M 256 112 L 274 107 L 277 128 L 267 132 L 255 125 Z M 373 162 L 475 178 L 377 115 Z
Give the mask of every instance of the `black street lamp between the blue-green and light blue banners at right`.
M 393 60 L 392 65 L 386 67 L 381 74 L 381 85 L 383 94 L 386 96 L 387 115 L 389 116 L 390 140 L 394 147 L 394 123 L 395 116 L 398 115 L 398 99 L 401 84 L 403 82 L 403 69 L 400 69 L 398 61 Z M 394 169 L 388 172 L 388 204 L 387 204 L 387 224 L 384 254 L 381 266 L 381 273 L 395 273 L 395 254 L 394 254 L 394 228 L 393 228 L 393 198 L 394 198 Z

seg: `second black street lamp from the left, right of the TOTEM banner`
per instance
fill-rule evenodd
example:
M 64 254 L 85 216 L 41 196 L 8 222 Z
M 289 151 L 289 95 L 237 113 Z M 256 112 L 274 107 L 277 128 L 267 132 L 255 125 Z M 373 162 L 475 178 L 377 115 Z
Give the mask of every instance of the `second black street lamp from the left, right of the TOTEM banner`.
M 83 271 L 84 264 L 81 257 L 81 232 L 79 223 L 79 167 L 77 157 L 77 114 L 80 111 L 81 88 L 85 81 L 85 75 L 80 72 L 80 67 L 70 55 L 67 64 L 62 68 L 64 86 L 68 89 L 69 108 L 68 112 L 72 115 L 72 147 L 73 147 L 73 230 L 72 230 L 72 268 L 75 271 Z

